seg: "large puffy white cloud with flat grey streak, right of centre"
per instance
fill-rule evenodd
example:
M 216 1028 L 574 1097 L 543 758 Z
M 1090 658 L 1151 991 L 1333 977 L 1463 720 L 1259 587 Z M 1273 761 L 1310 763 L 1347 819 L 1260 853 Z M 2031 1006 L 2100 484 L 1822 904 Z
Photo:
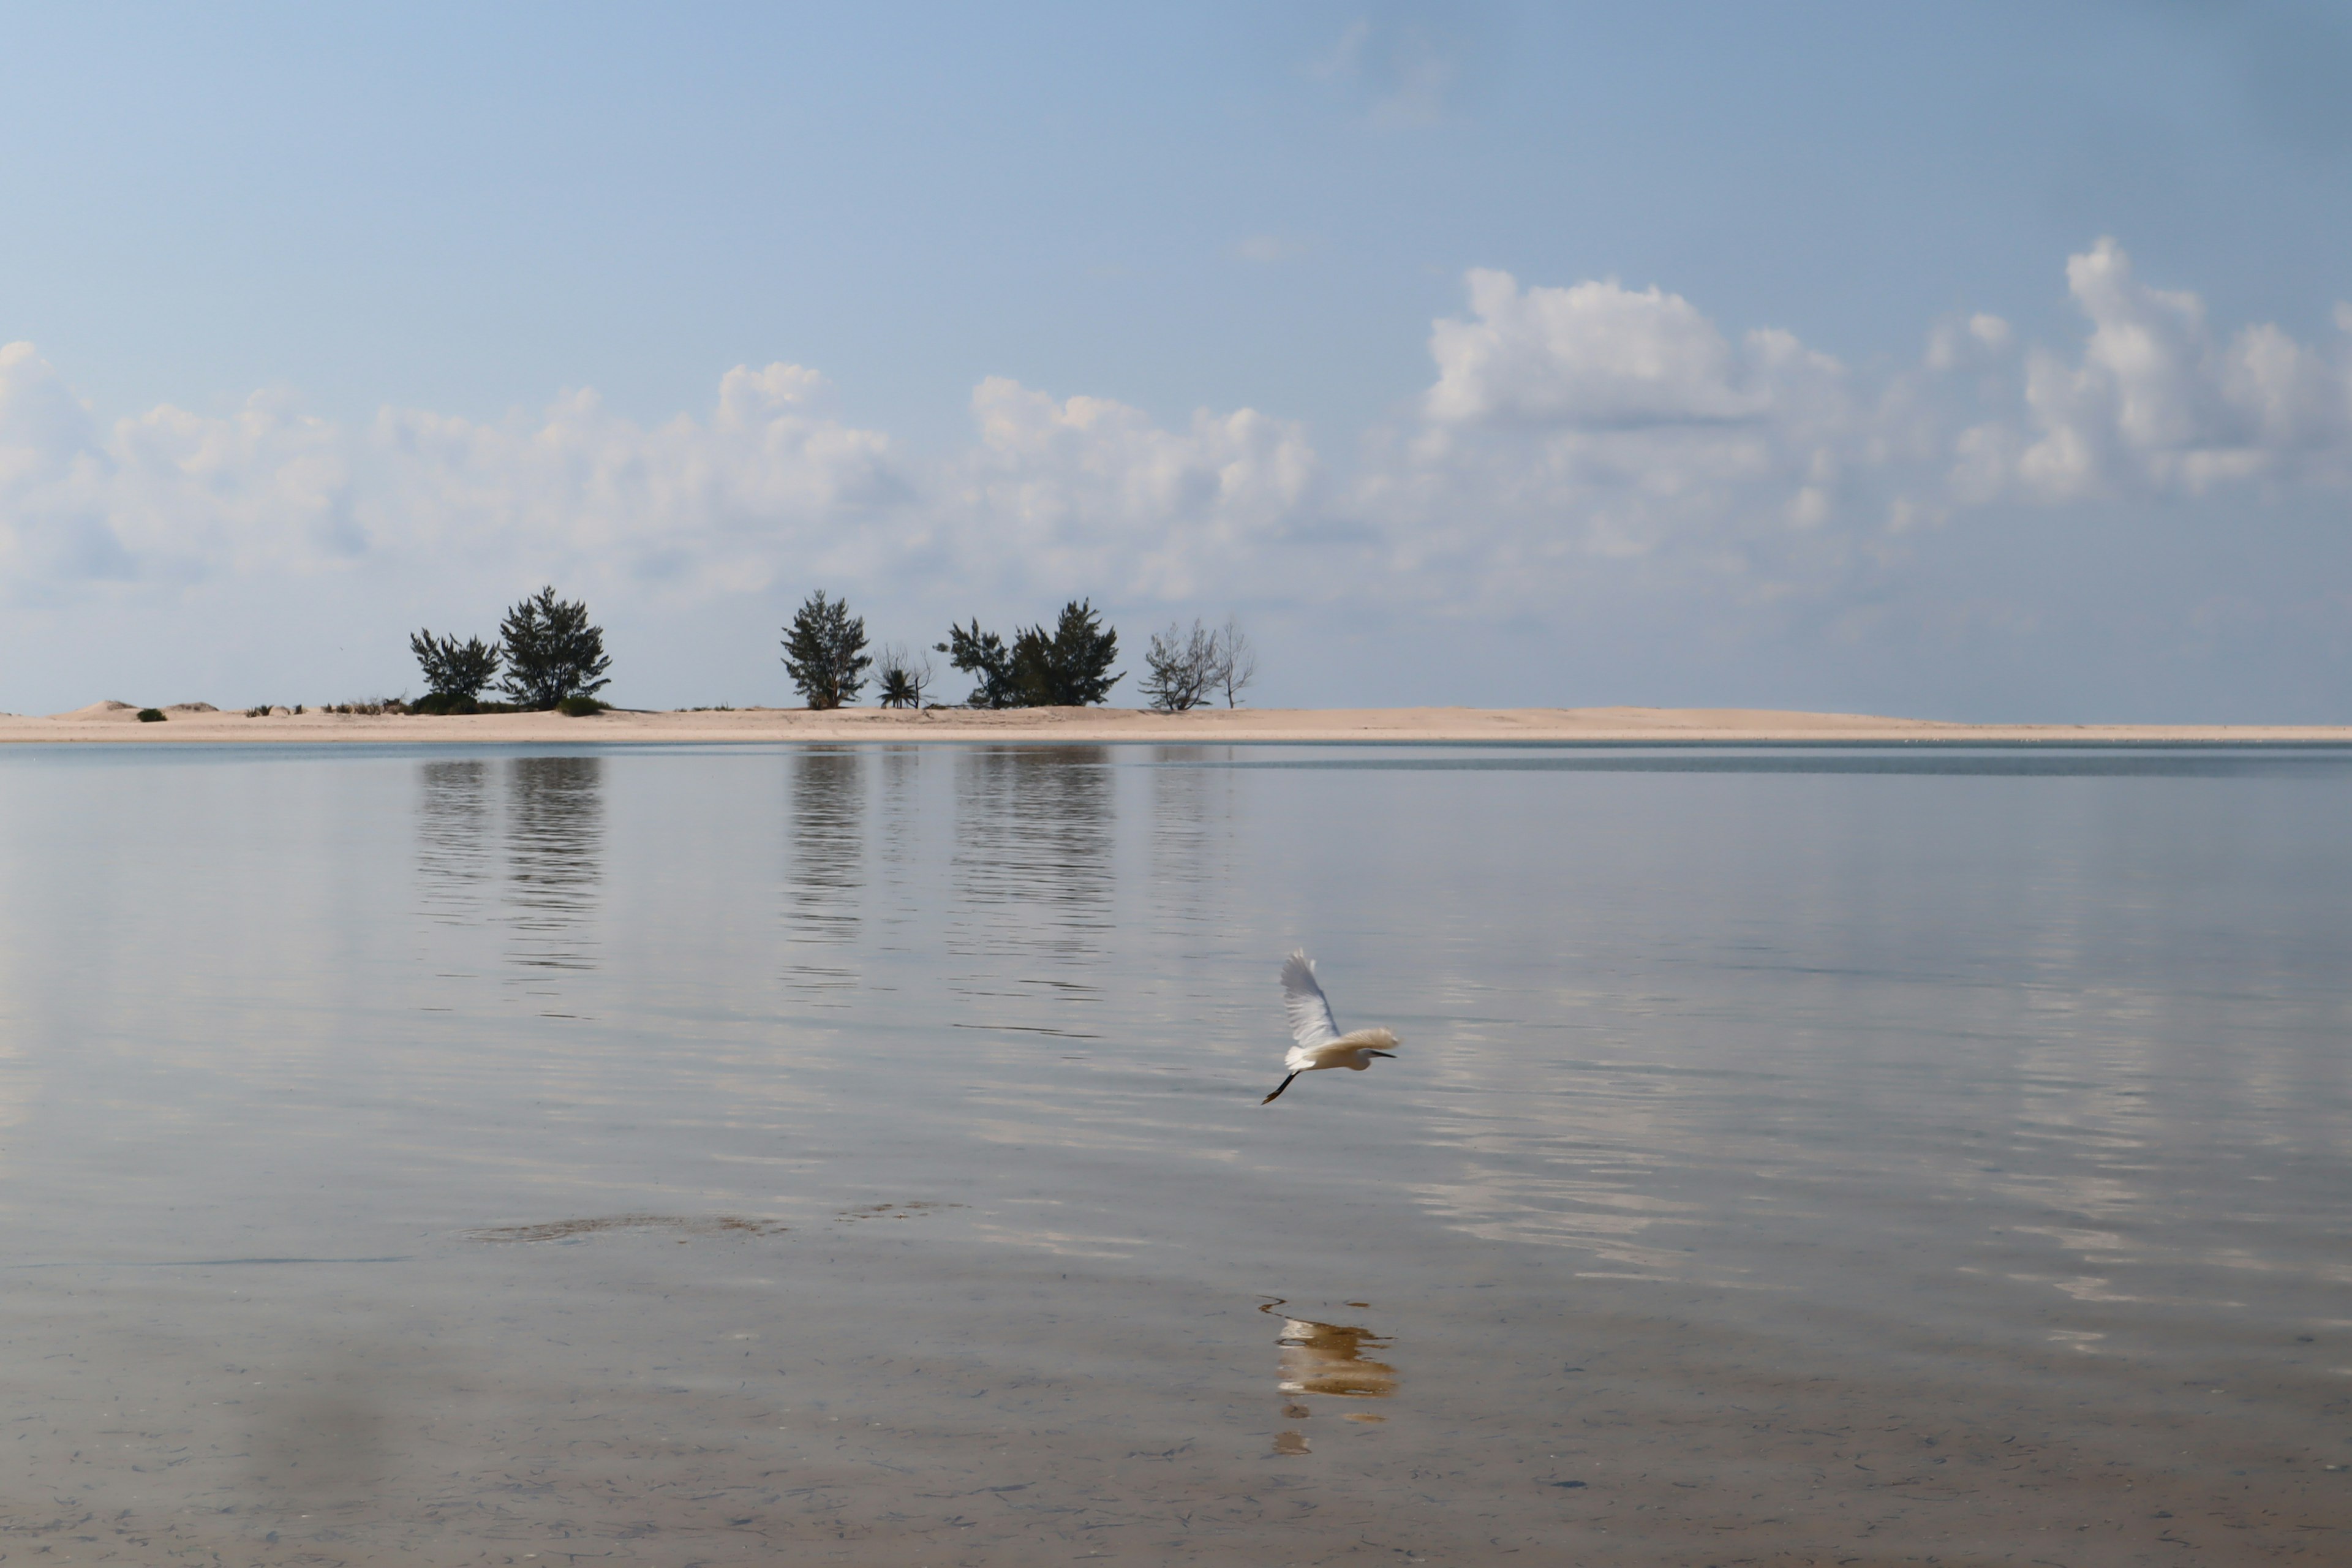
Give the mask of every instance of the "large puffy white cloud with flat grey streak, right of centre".
M 1468 277 L 1418 418 L 1378 433 L 1357 508 L 1423 590 L 1541 604 L 1595 562 L 1740 574 L 1818 555 L 1863 456 L 1849 371 L 1788 331 L 1736 341 L 1679 294 Z

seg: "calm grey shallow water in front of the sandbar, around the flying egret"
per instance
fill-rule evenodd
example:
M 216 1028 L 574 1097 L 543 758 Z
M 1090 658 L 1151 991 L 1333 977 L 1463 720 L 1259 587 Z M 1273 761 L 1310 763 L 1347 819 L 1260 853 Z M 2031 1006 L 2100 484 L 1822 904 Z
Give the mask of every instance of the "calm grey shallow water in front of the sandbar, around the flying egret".
M 2345 752 L 9 750 L 0 1556 L 2352 1561 L 2347 1037 Z

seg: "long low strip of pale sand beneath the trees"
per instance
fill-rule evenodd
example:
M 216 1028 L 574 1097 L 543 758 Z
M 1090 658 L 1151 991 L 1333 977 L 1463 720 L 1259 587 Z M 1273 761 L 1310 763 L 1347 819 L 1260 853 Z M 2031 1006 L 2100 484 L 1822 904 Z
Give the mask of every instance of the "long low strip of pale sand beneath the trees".
M 757 745 L 1058 743 L 1272 745 L 1454 743 L 1550 745 L 2352 745 L 2352 724 L 1955 724 L 1771 708 L 720 708 L 555 712 L 247 717 L 92 703 L 49 717 L 0 715 L 0 745 Z

